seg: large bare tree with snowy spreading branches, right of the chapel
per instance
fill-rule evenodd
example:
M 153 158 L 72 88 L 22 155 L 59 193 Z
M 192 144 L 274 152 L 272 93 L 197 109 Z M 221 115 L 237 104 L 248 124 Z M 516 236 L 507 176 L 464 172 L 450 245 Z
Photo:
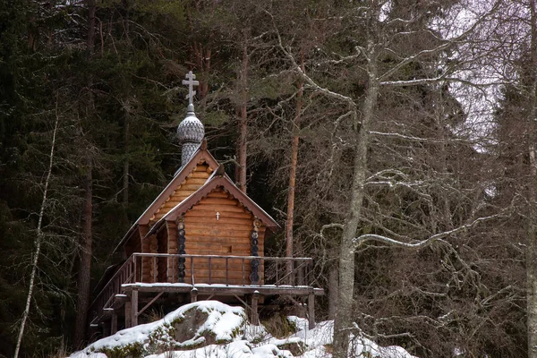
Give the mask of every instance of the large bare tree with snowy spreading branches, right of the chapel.
M 448 5 L 446 6 L 448 7 Z M 440 73 L 434 73 L 434 71 L 429 70 L 416 72 L 411 79 L 405 78 L 404 73 L 409 67 L 412 68 L 414 64 L 420 64 L 424 69 L 432 68 L 434 58 L 445 51 L 456 48 L 458 43 L 467 40 L 478 29 L 482 21 L 487 19 L 490 13 L 496 11 L 498 5 L 499 2 L 491 4 L 479 16 L 476 16 L 473 22 L 465 23 L 465 29 L 460 29 L 456 36 L 448 39 L 439 36 L 441 30 L 435 33 L 426 26 L 428 19 L 430 19 L 430 9 L 426 7 L 410 9 L 405 14 L 405 18 L 392 16 L 390 6 L 393 6 L 393 4 L 376 0 L 371 0 L 366 5 L 357 8 L 345 9 L 347 12 L 353 13 L 350 16 L 353 21 L 360 19 L 360 30 L 362 30 L 364 38 L 362 41 L 358 39 L 354 41 L 354 54 L 337 55 L 337 58 L 329 58 L 326 63 L 336 65 L 359 63 L 357 68 L 365 72 L 362 98 L 354 98 L 352 93 L 344 94 L 339 90 L 329 90 L 328 87 L 319 84 L 318 81 L 303 71 L 294 59 L 292 49 L 286 47 L 282 38 L 278 36 L 280 49 L 292 63 L 294 71 L 303 77 L 306 87 L 345 105 L 346 112 L 340 115 L 340 118 L 350 119 L 352 122 L 351 128 L 354 130 L 354 159 L 352 164 L 352 183 L 348 195 L 349 204 L 344 223 L 340 225 L 342 235 L 339 246 L 338 310 L 334 333 L 334 354 L 336 357 L 345 357 L 347 355 L 348 335 L 353 329 L 354 256 L 360 243 L 376 240 L 390 246 L 419 248 L 436 242 L 439 238 L 464 232 L 484 220 L 499 217 L 499 214 L 476 217 L 480 212 L 476 207 L 476 210 L 473 210 L 472 213 L 473 217 L 467 217 L 466 222 L 463 221 L 455 228 L 445 231 L 442 231 L 440 227 L 433 228 L 436 233 L 433 231 L 434 234 L 430 234 L 429 238 L 424 240 L 414 239 L 414 242 L 412 242 L 412 238 L 405 236 L 405 234 L 396 234 L 387 226 L 377 227 L 377 229 L 385 231 L 387 234 L 358 235 L 360 226 L 366 217 L 363 213 L 364 204 L 366 200 L 368 206 L 371 202 L 368 199 L 368 187 L 388 184 L 390 187 L 406 187 L 411 188 L 411 191 L 413 190 L 413 183 L 405 183 L 404 180 L 398 181 L 395 179 L 397 172 L 403 174 L 401 171 L 397 171 L 396 168 L 387 170 L 384 173 L 379 172 L 371 175 L 371 158 L 368 151 L 371 149 L 372 143 L 386 141 L 387 137 L 399 137 L 406 141 L 428 141 L 412 135 L 398 135 L 396 131 L 395 133 L 376 131 L 375 129 L 379 125 L 379 93 L 393 87 L 407 88 L 409 86 L 432 85 L 435 83 L 441 87 L 452 81 L 464 81 L 461 77 L 452 76 L 454 68 L 451 66 L 446 66 Z M 451 20 L 453 21 L 453 19 Z M 450 26 L 453 26 L 453 23 Z M 422 37 L 422 42 L 419 46 L 415 48 L 405 47 L 410 39 L 415 40 L 418 36 Z M 358 37 L 356 36 L 356 38 Z M 424 60 L 425 62 L 423 62 Z M 430 64 L 426 64 L 426 62 Z M 388 67 L 387 63 L 389 64 Z M 400 79 L 394 80 L 394 77 L 399 77 Z M 377 180 L 379 178 L 388 180 Z M 375 224 L 373 223 L 372 225 L 375 226 Z M 330 226 L 333 227 L 333 225 Z M 423 230 L 423 232 L 427 231 L 429 229 Z M 407 241 L 411 241 L 411 243 Z

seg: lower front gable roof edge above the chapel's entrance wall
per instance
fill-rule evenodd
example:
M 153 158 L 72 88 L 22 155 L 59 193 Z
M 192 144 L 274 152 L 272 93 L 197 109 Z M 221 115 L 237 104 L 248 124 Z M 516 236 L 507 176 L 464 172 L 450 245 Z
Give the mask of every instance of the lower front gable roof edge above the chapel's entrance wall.
M 157 224 L 155 224 L 151 228 L 147 235 L 154 233 L 155 230 L 158 230 L 158 227 L 162 226 L 164 222 L 169 220 L 175 220 L 176 217 L 183 215 L 184 213 L 186 213 L 187 210 L 192 209 L 194 205 L 196 205 L 200 202 L 201 199 L 209 195 L 210 192 L 213 192 L 215 189 L 217 189 L 217 187 L 222 187 L 224 190 L 226 190 L 226 192 L 229 192 L 236 200 L 239 200 L 239 202 L 243 204 L 244 208 L 248 209 L 255 217 L 259 218 L 261 222 L 268 227 L 268 229 L 274 231 L 280 227 L 277 222 L 267 214 L 265 210 L 261 209 L 258 204 L 256 204 L 253 200 L 250 199 L 250 197 L 248 197 L 239 188 L 237 188 L 236 185 L 226 174 L 218 175 L 217 172 L 220 171 L 221 170 L 215 171 L 209 177 L 207 182 L 200 187 L 200 189 L 198 189 L 196 192 L 193 192 L 191 196 L 181 201 L 179 204 L 175 205 L 174 209 L 168 211 L 164 217 L 158 220 Z

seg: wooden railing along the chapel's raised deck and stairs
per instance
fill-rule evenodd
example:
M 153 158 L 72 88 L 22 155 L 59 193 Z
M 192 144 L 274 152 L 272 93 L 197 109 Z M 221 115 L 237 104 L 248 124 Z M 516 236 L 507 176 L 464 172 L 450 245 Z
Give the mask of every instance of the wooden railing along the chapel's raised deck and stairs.
M 255 268 L 257 276 L 252 275 Z M 311 268 L 310 258 L 133 253 L 91 303 L 90 319 L 95 323 L 112 308 L 115 295 L 124 294 L 124 284 L 311 286 Z

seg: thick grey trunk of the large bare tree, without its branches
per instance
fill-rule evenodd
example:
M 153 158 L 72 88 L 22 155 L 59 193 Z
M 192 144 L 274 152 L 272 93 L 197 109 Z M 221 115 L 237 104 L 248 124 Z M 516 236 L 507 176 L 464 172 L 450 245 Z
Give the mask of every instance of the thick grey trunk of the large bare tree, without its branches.
M 352 328 L 354 297 L 354 237 L 360 223 L 363 201 L 363 184 L 367 174 L 367 149 L 369 145 L 369 127 L 375 116 L 375 107 L 379 96 L 377 64 L 374 55 L 374 43 L 369 41 L 369 86 L 365 93 L 362 107 L 362 123 L 357 127 L 357 144 L 354 152 L 354 172 L 352 196 L 348 216 L 341 237 L 339 248 L 339 290 L 337 295 L 337 313 L 334 322 L 334 358 L 345 358 L 349 345 L 349 330 Z

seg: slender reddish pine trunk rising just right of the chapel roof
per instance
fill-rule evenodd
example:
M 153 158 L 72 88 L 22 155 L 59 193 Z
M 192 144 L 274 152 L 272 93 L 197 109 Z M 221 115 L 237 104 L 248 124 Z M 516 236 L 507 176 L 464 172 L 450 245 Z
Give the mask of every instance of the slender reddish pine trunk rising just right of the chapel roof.
M 304 53 L 301 52 L 301 68 L 304 71 Z M 294 225 L 294 185 L 296 181 L 296 166 L 298 165 L 298 142 L 300 118 L 303 105 L 303 81 L 299 80 L 299 90 L 296 96 L 296 107 L 293 122 L 293 141 L 291 141 L 291 167 L 289 169 L 289 187 L 287 189 L 287 220 L 286 220 L 286 257 L 293 257 L 293 225 Z M 291 279 L 293 262 L 287 262 L 287 275 Z M 292 283 L 291 283 L 292 284 Z

